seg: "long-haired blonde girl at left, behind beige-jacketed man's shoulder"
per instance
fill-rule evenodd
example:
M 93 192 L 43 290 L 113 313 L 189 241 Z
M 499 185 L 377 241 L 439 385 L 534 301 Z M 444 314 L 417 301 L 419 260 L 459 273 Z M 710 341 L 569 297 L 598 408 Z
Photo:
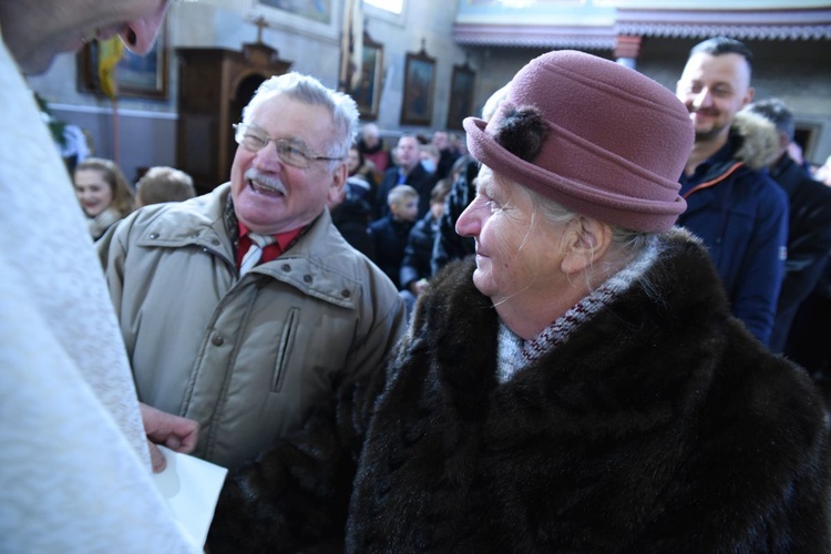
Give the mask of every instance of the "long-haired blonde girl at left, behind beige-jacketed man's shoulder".
M 93 240 L 135 208 L 133 191 L 111 160 L 88 157 L 75 166 L 72 181 Z

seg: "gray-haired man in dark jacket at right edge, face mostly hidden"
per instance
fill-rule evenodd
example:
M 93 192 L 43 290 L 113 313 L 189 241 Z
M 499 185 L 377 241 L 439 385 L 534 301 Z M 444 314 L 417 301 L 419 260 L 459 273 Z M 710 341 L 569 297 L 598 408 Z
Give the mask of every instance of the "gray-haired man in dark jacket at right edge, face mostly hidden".
M 812 179 L 788 154 L 796 123 L 793 113 L 781 100 L 753 102 L 747 110 L 768 119 L 777 127 L 779 156 L 770 166 L 770 176 L 790 201 L 788 260 L 770 337 L 770 349 L 782 352 L 793 316 L 817 286 L 831 252 L 831 188 Z

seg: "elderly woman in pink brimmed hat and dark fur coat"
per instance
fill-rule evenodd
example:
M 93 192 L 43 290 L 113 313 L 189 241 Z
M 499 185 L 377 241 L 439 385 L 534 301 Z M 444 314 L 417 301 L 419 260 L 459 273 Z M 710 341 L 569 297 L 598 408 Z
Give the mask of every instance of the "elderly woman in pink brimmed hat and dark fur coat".
M 386 375 L 228 481 L 209 551 L 828 552 L 820 399 L 673 228 L 684 106 L 561 51 L 464 126 L 475 258 Z

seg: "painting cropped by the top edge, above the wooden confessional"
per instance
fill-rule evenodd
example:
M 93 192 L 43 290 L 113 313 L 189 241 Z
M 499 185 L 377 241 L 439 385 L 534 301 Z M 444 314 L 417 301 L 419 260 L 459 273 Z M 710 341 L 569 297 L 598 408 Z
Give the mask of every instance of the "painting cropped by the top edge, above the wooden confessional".
M 263 18 L 270 29 L 337 42 L 341 32 L 341 1 L 250 0 L 249 19 Z

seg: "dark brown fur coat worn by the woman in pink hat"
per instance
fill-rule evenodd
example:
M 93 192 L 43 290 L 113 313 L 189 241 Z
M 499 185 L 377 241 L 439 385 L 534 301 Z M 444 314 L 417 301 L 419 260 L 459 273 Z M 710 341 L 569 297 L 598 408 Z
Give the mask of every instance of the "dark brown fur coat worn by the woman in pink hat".
M 473 261 L 449 266 L 386 376 L 228 481 L 209 552 L 829 552 L 813 384 L 663 242 L 503 383 Z

